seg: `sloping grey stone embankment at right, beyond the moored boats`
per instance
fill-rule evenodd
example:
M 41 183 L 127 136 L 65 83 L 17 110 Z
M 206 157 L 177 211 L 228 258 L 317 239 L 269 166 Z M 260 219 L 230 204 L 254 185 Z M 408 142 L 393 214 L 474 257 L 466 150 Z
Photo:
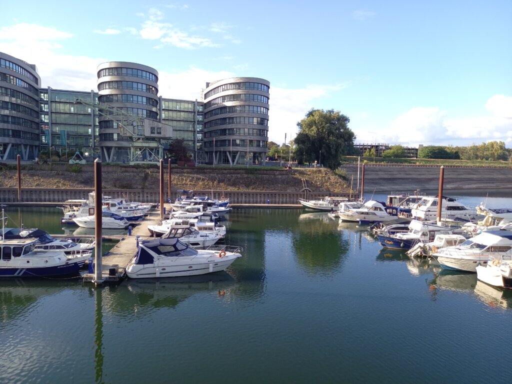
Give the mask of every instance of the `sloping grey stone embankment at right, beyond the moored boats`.
M 344 166 L 349 182 L 354 177 L 357 188 L 357 164 Z M 365 191 L 414 191 L 439 188 L 439 166 L 365 164 Z M 361 170 L 359 171 L 361 174 Z M 443 190 L 511 189 L 510 167 L 444 166 Z

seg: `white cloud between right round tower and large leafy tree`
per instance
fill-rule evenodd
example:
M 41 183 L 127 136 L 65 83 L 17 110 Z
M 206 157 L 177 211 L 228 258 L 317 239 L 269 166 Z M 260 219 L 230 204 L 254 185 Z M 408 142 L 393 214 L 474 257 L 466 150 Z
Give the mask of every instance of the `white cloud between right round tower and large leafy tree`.
M 314 100 L 332 92 L 346 88 L 344 84 L 336 86 L 311 85 L 303 89 L 272 87 L 270 84 L 270 110 L 268 139 L 278 144 L 293 139 L 298 132 L 297 122 L 306 113 L 315 108 Z

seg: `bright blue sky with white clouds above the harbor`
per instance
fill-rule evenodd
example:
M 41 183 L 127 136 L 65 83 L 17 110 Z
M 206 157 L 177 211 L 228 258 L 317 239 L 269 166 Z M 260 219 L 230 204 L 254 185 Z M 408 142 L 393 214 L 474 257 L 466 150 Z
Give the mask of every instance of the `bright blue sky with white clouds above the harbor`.
M 54 89 L 97 90 L 104 61 L 155 68 L 167 98 L 262 77 L 279 144 L 317 108 L 347 115 L 358 143 L 512 147 L 511 19 L 509 0 L 9 2 L 0 51 Z

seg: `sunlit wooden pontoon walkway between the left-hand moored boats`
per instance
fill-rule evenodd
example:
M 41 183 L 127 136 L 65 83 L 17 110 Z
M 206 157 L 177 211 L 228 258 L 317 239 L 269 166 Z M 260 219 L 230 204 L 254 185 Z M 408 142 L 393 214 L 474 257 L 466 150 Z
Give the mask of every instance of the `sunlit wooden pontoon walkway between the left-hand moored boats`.
M 168 212 L 170 206 L 166 204 L 166 211 Z M 139 225 L 132 229 L 132 236 L 125 235 L 117 243 L 109 253 L 105 254 L 101 263 L 101 276 L 104 278 L 105 283 L 117 283 L 124 278 L 125 268 L 137 253 L 137 236 L 139 241 L 150 239 L 150 231 L 147 229 L 148 225 L 157 224 L 160 221 L 160 209 L 152 209 L 149 214 L 144 217 Z M 111 269 L 115 273 L 111 273 Z M 83 275 L 84 282 L 92 282 L 94 280 L 94 273 L 86 273 Z

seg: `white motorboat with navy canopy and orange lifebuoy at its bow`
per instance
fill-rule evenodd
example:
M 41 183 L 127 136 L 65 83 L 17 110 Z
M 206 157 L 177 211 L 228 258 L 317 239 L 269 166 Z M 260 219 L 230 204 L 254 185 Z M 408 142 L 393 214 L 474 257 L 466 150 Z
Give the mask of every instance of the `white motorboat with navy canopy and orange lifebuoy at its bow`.
M 126 266 L 131 279 L 190 276 L 226 269 L 242 257 L 240 247 L 194 249 L 178 239 L 145 240 Z

